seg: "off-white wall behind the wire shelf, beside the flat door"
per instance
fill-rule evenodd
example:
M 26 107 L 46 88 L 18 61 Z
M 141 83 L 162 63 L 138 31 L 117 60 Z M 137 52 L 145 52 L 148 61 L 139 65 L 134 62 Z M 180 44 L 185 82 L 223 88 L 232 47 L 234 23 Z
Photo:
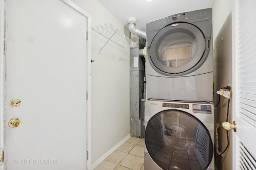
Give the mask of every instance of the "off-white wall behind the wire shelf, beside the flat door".
M 130 32 L 98 0 L 72 0 L 92 16 L 92 27 L 111 23 Z M 130 50 L 92 31 L 92 164 L 130 134 Z

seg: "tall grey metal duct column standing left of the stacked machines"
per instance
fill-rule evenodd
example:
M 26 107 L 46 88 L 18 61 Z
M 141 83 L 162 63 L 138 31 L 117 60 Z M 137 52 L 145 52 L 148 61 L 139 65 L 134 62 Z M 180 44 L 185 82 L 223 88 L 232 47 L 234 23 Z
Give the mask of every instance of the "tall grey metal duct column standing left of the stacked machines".
M 130 39 L 138 42 L 138 46 L 130 47 L 130 134 L 131 137 L 144 138 L 141 100 L 144 99 L 145 59 L 141 56 L 144 56 L 142 49 L 146 45 L 146 39 L 130 34 Z

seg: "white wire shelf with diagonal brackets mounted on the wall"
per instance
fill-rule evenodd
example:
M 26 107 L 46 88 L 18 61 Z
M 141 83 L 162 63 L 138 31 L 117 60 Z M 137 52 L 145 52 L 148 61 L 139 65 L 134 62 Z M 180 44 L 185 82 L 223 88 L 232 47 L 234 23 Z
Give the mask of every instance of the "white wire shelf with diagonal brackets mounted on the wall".
M 121 59 L 130 47 L 137 47 L 136 43 L 134 43 L 131 39 L 124 35 L 124 33 L 122 33 L 116 27 L 114 27 L 111 23 L 92 27 L 92 30 L 96 31 L 97 33 L 108 39 L 105 45 L 100 49 L 100 52 L 109 41 L 112 41 L 113 43 L 125 49 L 124 53 L 119 58 Z

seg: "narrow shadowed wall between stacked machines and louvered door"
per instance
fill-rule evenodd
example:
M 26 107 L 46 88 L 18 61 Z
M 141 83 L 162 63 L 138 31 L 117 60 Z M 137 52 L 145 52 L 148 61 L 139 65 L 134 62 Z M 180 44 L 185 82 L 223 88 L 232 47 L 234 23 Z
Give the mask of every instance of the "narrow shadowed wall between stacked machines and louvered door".
M 232 0 L 216 0 L 213 7 L 213 49 L 214 49 L 214 104 L 218 102 L 216 90 L 232 84 Z M 223 37 L 223 40 L 221 39 Z M 217 47 L 218 45 L 218 47 Z M 220 96 L 220 104 L 215 108 L 215 121 L 226 121 L 228 99 Z M 232 122 L 232 98 L 229 106 L 229 122 Z M 218 129 L 220 152 L 227 145 L 226 130 Z M 228 131 L 230 146 L 217 158 L 218 170 L 232 169 L 232 131 Z

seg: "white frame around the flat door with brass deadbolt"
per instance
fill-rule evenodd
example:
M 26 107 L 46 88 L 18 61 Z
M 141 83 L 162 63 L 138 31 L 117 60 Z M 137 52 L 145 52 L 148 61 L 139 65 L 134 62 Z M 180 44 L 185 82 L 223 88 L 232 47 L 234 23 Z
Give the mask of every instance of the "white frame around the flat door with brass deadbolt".
M 90 170 L 92 166 L 92 129 L 91 129 L 91 16 L 82 8 L 70 0 L 60 0 L 76 12 L 82 14 L 87 18 L 88 39 L 87 39 L 87 169 Z M 0 148 L 4 149 L 4 0 L 0 0 Z M 4 170 L 4 166 L 0 166 L 0 170 Z

